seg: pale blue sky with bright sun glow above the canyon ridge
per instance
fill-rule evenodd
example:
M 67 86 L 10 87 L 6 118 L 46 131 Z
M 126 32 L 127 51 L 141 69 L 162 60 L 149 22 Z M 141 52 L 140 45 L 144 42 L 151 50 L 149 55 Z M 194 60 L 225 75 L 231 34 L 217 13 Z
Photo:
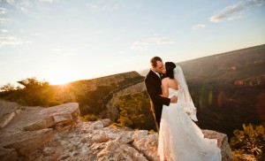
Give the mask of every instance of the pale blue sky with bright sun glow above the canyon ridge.
M 0 0 L 0 86 L 63 84 L 265 44 L 265 0 Z

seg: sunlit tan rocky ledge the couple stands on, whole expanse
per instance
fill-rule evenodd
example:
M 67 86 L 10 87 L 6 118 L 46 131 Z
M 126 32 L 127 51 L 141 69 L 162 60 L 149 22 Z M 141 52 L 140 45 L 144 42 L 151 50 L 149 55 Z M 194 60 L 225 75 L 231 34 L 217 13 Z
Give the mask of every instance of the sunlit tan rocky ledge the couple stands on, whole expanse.
M 0 129 L 0 160 L 159 160 L 157 133 L 81 121 L 78 103 L 24 109 Z M 226 134 L 203 133 L 217 139 L 223 161 L 232 160 Z

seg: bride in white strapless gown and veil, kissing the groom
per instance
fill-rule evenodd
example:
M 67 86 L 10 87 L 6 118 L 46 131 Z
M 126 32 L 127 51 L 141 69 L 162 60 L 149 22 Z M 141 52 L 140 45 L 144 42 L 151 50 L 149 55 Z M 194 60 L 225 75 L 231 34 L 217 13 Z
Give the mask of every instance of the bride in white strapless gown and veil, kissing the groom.
M 194 121 L 196 108 L 179 66 L 165 63 L 162 80 L 163 96 L 177 96 L 178 103 L 163 105 L 158 155 L 161 161 L 220 161 L 221 149 L 216 139 L 204 138 Z M 192 120 L 193 119 L 193 120 Z

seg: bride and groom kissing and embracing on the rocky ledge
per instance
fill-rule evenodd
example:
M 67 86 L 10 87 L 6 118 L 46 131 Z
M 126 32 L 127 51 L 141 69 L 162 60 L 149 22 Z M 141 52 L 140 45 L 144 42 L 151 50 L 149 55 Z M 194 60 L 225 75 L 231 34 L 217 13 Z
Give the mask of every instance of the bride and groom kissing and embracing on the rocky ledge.
M 180 66 L 151 58 L 145 85 L 159 132 L 161 161 L 220 161 L 216 139 L 204 138 L 194 121 L 196 108 Z M 162 75 L 163 74 L 163 75 Z

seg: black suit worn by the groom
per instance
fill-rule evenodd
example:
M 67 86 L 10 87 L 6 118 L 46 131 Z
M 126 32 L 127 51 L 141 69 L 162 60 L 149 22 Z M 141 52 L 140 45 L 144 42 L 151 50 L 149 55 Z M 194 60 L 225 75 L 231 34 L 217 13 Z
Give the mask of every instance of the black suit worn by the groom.
M 159 132 L 163 104 L 169 105 L 170 98 L 160 96 L 162 95 L 161 80 L 152 70 L 149 71 L 145 79 L 145 85 L 151 99 L 151 109 L 155 117 L 157 132 Z

